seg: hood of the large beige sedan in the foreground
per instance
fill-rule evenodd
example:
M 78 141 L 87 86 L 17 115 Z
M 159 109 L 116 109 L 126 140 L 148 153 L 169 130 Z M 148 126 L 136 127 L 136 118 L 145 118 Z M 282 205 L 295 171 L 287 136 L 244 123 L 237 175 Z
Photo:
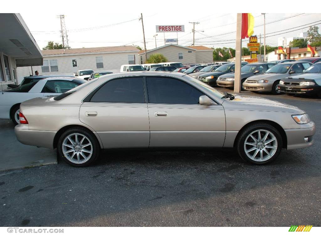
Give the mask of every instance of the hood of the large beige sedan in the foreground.
M 230 101 L 230 100 L 227 100 Z M 274 112 L 294 112 L 295 114 L 305 113 L 303 110 L 278 101 L 269 100 L 266 98 L 235 95 L 235 99 L 230 101 L 235 104 L 236 109 L 240 109 L 239 105 L 249 110 L 262 110 Z M 248 108 L 247 108 L 248 107 Z

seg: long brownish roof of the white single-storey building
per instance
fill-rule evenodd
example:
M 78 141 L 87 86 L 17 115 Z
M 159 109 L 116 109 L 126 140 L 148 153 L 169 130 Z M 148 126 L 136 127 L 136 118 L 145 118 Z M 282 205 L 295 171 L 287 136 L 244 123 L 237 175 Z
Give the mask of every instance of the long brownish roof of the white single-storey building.
M 72 49 L 52 49 L 42 50 L 43 56 L 58 55 L 58 54 L 90 54 L 97 52 L 126 52 L 126 51 L 139 51 L 134 46 L 114 46 L 114 47 L 88 47 L 88 48 L 72 48 Z

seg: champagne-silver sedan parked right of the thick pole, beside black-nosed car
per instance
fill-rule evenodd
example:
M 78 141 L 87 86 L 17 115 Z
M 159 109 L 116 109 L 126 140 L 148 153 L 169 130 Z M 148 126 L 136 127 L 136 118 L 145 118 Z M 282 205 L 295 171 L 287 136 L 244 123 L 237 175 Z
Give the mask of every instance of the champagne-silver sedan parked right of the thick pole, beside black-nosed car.
M 310 62 L 284 62 L 274 65 L 265 74 L 248 77 L 242 84 L 244 90 L 281 94 L 278 84 L 282 78 L 296 76 L 312 65 Z

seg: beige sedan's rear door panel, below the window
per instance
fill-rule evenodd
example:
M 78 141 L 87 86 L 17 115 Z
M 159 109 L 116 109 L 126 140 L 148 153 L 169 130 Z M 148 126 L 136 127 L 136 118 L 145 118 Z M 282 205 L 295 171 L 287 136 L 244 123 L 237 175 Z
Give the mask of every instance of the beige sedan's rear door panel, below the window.
M 88 112 L 97 112 L 97 115 Z M 147 104 L 86 102 L 80 107 L 79 119 L 98 133 L 104 148 L 149 145 Z

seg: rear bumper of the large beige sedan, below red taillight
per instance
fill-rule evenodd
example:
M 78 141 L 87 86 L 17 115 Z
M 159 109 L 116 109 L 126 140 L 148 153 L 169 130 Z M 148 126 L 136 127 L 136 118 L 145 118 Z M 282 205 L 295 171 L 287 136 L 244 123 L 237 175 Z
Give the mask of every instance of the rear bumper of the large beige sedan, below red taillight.
M 23 144 L 53 149 L 53 142 L 57 132 L 29 130 L 28 124 L 18 124 L 14 128 L 14 133 L 18 141 Z

